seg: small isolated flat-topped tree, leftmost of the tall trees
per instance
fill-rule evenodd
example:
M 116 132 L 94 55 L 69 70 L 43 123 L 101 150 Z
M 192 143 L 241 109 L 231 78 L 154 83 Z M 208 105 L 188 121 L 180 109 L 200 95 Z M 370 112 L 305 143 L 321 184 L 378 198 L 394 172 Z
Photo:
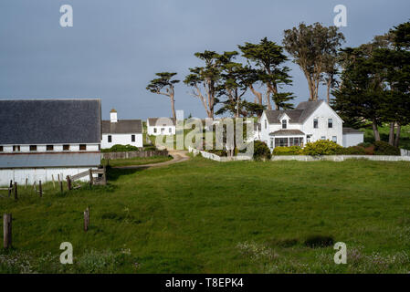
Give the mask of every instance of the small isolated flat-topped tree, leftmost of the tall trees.
M 167 96 L 171 100 L 171 110 L 173 112 L 173 119 L 176 119 L 175 115 L 175 89 L 174 84 L 180 82 L 180 80 L 173 79 L 177 73 L 161 72 L 155 73 L 158 78 L 151 80 L 147 86 L 147 90 L 150 90 L 156 94 L 162 94 Z M 164 90 L 164 91 L 163 91 Z

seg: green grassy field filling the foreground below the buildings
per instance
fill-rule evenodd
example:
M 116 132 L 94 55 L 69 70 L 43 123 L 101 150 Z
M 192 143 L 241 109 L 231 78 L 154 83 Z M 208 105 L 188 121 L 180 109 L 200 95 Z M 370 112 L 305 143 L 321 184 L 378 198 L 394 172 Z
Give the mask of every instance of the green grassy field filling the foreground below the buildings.
M 110 170 L 105 187 L 0 197 L 14 246 L 0 272 L 408 273 L 410 163 L 212 162 Z M 0 193 L 5 195 L 6 193 Z M 90 208 L 90 228 L 82 212 Z M 332 246 L 346 243 L 347 265 Z M 59 264 L 70 242 L 74 265 Z

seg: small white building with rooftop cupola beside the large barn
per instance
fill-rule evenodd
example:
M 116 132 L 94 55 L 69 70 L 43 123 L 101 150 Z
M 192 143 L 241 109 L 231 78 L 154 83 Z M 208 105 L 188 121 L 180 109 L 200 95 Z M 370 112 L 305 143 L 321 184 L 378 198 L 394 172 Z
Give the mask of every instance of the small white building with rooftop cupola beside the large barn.
M 142 148 L 142 120 L 118 120 L 117 110 L 110 110 L 110 120 L 102 120 L 101 148 L 116 144 Z

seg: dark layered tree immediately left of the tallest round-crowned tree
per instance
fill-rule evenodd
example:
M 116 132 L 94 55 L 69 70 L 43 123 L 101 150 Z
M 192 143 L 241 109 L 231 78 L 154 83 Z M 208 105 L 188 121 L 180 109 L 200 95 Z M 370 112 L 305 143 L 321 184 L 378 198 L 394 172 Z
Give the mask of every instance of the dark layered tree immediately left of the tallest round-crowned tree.
M 289 76 L 289 68 L 283 66 L 283 63 L 288 61 L 288 57 L 283 53 L 283 47 L 275 42 L 269 41 L 267 37 L 260 40 L 258 44 L 245 43 L 244 46 L 238 46 L 242 52 L 242 56 L 248 59 L 249 64 L 256 66 L 253 71 L 249 71 L 253 75 L 253 81 L 260 81 L 267 88 L 266 102 L 268 110 L 272 110 L 270 99 L 275 103 L 276 110 L 280 108 L 290 108 L 289 100 L 294 99 L 291 93 L 279 93 L 279 89 L 283 85 L 291 85 Z M 252 78 L 248 79 L 249 81 Z M 253 88 L 255 82 L 249 83 L 249 89 L 260 100 L 261 93 Z

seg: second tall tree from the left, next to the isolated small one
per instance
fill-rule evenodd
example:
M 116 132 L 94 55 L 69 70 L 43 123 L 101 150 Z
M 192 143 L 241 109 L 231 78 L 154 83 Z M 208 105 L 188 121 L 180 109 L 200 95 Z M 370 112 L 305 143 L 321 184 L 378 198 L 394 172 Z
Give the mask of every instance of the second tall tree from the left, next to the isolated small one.
M 216 88 L 221 78 L 221 55 L 205 50 L 203 53 L 195 53 L 194 56 L 204 60 L 205 66 L 189 68 L 191 74 L 185 77 L 184 83 L 194 89 L 192 94 L 201 100 L 208 118 L 214 119 L 214 109 L 218 101 Z

